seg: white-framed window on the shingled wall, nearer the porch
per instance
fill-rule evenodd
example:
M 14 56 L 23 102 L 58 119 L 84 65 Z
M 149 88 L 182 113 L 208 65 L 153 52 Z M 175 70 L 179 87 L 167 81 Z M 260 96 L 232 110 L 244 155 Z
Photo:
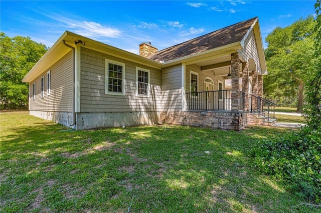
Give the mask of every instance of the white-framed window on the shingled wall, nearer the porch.
M 136 67 L 136 96 L 149 97 L 149 70 Z

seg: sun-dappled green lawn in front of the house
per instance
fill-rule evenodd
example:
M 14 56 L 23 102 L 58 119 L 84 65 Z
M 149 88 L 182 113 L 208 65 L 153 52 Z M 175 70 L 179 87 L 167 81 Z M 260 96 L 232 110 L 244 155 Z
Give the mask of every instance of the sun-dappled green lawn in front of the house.
M 2 212 L 318 210 L 251 163 L 251 144 L 285 128 L 60 131 L 28 112 L 0 119 Z

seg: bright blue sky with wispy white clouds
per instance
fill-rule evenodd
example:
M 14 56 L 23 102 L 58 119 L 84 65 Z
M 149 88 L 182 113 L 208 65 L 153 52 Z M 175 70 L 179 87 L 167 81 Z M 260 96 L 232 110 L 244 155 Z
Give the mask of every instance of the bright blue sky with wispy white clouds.
M 52 46 L 65 30 L 138 53 L 159 50 L 255 16 L 263 41 L 277 26 L 314 15 L 315 0 L 13 1 L 1 0 L 1 31 Z M 266 44 L 264 44 L 266 45 Z

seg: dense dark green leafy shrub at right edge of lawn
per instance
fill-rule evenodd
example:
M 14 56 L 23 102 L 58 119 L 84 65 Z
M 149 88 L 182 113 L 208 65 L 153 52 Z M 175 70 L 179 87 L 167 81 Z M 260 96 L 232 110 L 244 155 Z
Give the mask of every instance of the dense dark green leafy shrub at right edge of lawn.
M 321 128 L 306 126 L 282 137 L 260 140 L 252 156 L 256 167 L 287 183 L 290 191 L 321 202 Z

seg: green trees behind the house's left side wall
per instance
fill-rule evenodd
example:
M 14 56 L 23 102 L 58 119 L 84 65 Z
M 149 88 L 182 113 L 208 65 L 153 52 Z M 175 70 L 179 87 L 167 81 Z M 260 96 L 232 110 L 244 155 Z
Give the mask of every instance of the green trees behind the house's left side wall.
M 9 37 L 0 32 L 1 105 L 17 108 L 28 104 L 28 84 L 23 77 L 46 53 L 48 47 L 30 37 Z

